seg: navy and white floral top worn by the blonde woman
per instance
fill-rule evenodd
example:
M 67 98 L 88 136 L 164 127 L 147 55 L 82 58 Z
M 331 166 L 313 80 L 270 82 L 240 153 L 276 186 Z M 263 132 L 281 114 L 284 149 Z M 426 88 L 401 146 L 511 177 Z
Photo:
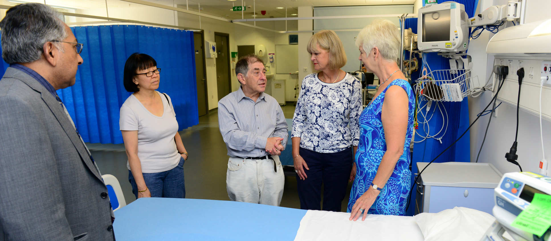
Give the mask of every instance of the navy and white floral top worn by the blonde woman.
M 323 83 L 317 73 L 302 80 L 293 117 L 292 137 L 300 147 L 320 153 L 334 153 L 358 146 L 361 113 L 361 84 L 346 74 L 334 84 Z

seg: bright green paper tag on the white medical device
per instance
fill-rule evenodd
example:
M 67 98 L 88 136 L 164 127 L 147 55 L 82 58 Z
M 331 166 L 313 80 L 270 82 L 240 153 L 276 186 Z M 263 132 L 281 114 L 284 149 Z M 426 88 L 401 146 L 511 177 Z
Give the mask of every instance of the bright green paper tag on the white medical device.
M 541 237 L 551 226 L 551 196 L 534 194 L 530 205 L 522 210 L 511 226 Z

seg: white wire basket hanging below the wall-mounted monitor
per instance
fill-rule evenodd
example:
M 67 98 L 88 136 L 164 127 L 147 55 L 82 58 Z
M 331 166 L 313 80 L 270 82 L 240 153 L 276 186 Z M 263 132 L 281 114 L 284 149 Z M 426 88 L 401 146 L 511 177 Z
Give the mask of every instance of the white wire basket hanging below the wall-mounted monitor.
M 434 70 L 415 81 L 415 94 L 424 101 L 462 101 L 478 86 L 471 69 Z

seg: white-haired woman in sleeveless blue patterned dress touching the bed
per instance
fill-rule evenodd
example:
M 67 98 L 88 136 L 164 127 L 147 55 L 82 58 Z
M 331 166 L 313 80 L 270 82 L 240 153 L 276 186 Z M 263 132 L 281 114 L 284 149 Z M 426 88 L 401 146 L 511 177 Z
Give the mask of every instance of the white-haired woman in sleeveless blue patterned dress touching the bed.
M 398 29 L 391 21 L 376 20 L 360 31 L 356 46 L 360 61 L 379 77 L 380 86 L 359 120 L 350 220 L 358 220 L 362 212 L 362 220 L 367 213 L 404 215 L 411 187 L 409 143 L 415 96 L 396 63 L 401 52 Z

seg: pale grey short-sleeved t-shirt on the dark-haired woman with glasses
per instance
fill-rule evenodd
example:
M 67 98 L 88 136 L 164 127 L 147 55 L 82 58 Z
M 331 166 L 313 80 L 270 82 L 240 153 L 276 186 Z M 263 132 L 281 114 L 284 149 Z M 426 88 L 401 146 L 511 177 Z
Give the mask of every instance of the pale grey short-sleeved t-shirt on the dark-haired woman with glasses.
M 163 116 L 149 112 L 134 95 L 126 99 L 120 112 L 120 129 L 138 131 L 138 157 L 143 173 L 168 171 L 180 161 L 174 142 L 174 135 L 178 131 L 176 113 L 165 96 L 159 91 L 155 92 L 163 101 Z M 130 169 L 128 162 L 126 166 Z

